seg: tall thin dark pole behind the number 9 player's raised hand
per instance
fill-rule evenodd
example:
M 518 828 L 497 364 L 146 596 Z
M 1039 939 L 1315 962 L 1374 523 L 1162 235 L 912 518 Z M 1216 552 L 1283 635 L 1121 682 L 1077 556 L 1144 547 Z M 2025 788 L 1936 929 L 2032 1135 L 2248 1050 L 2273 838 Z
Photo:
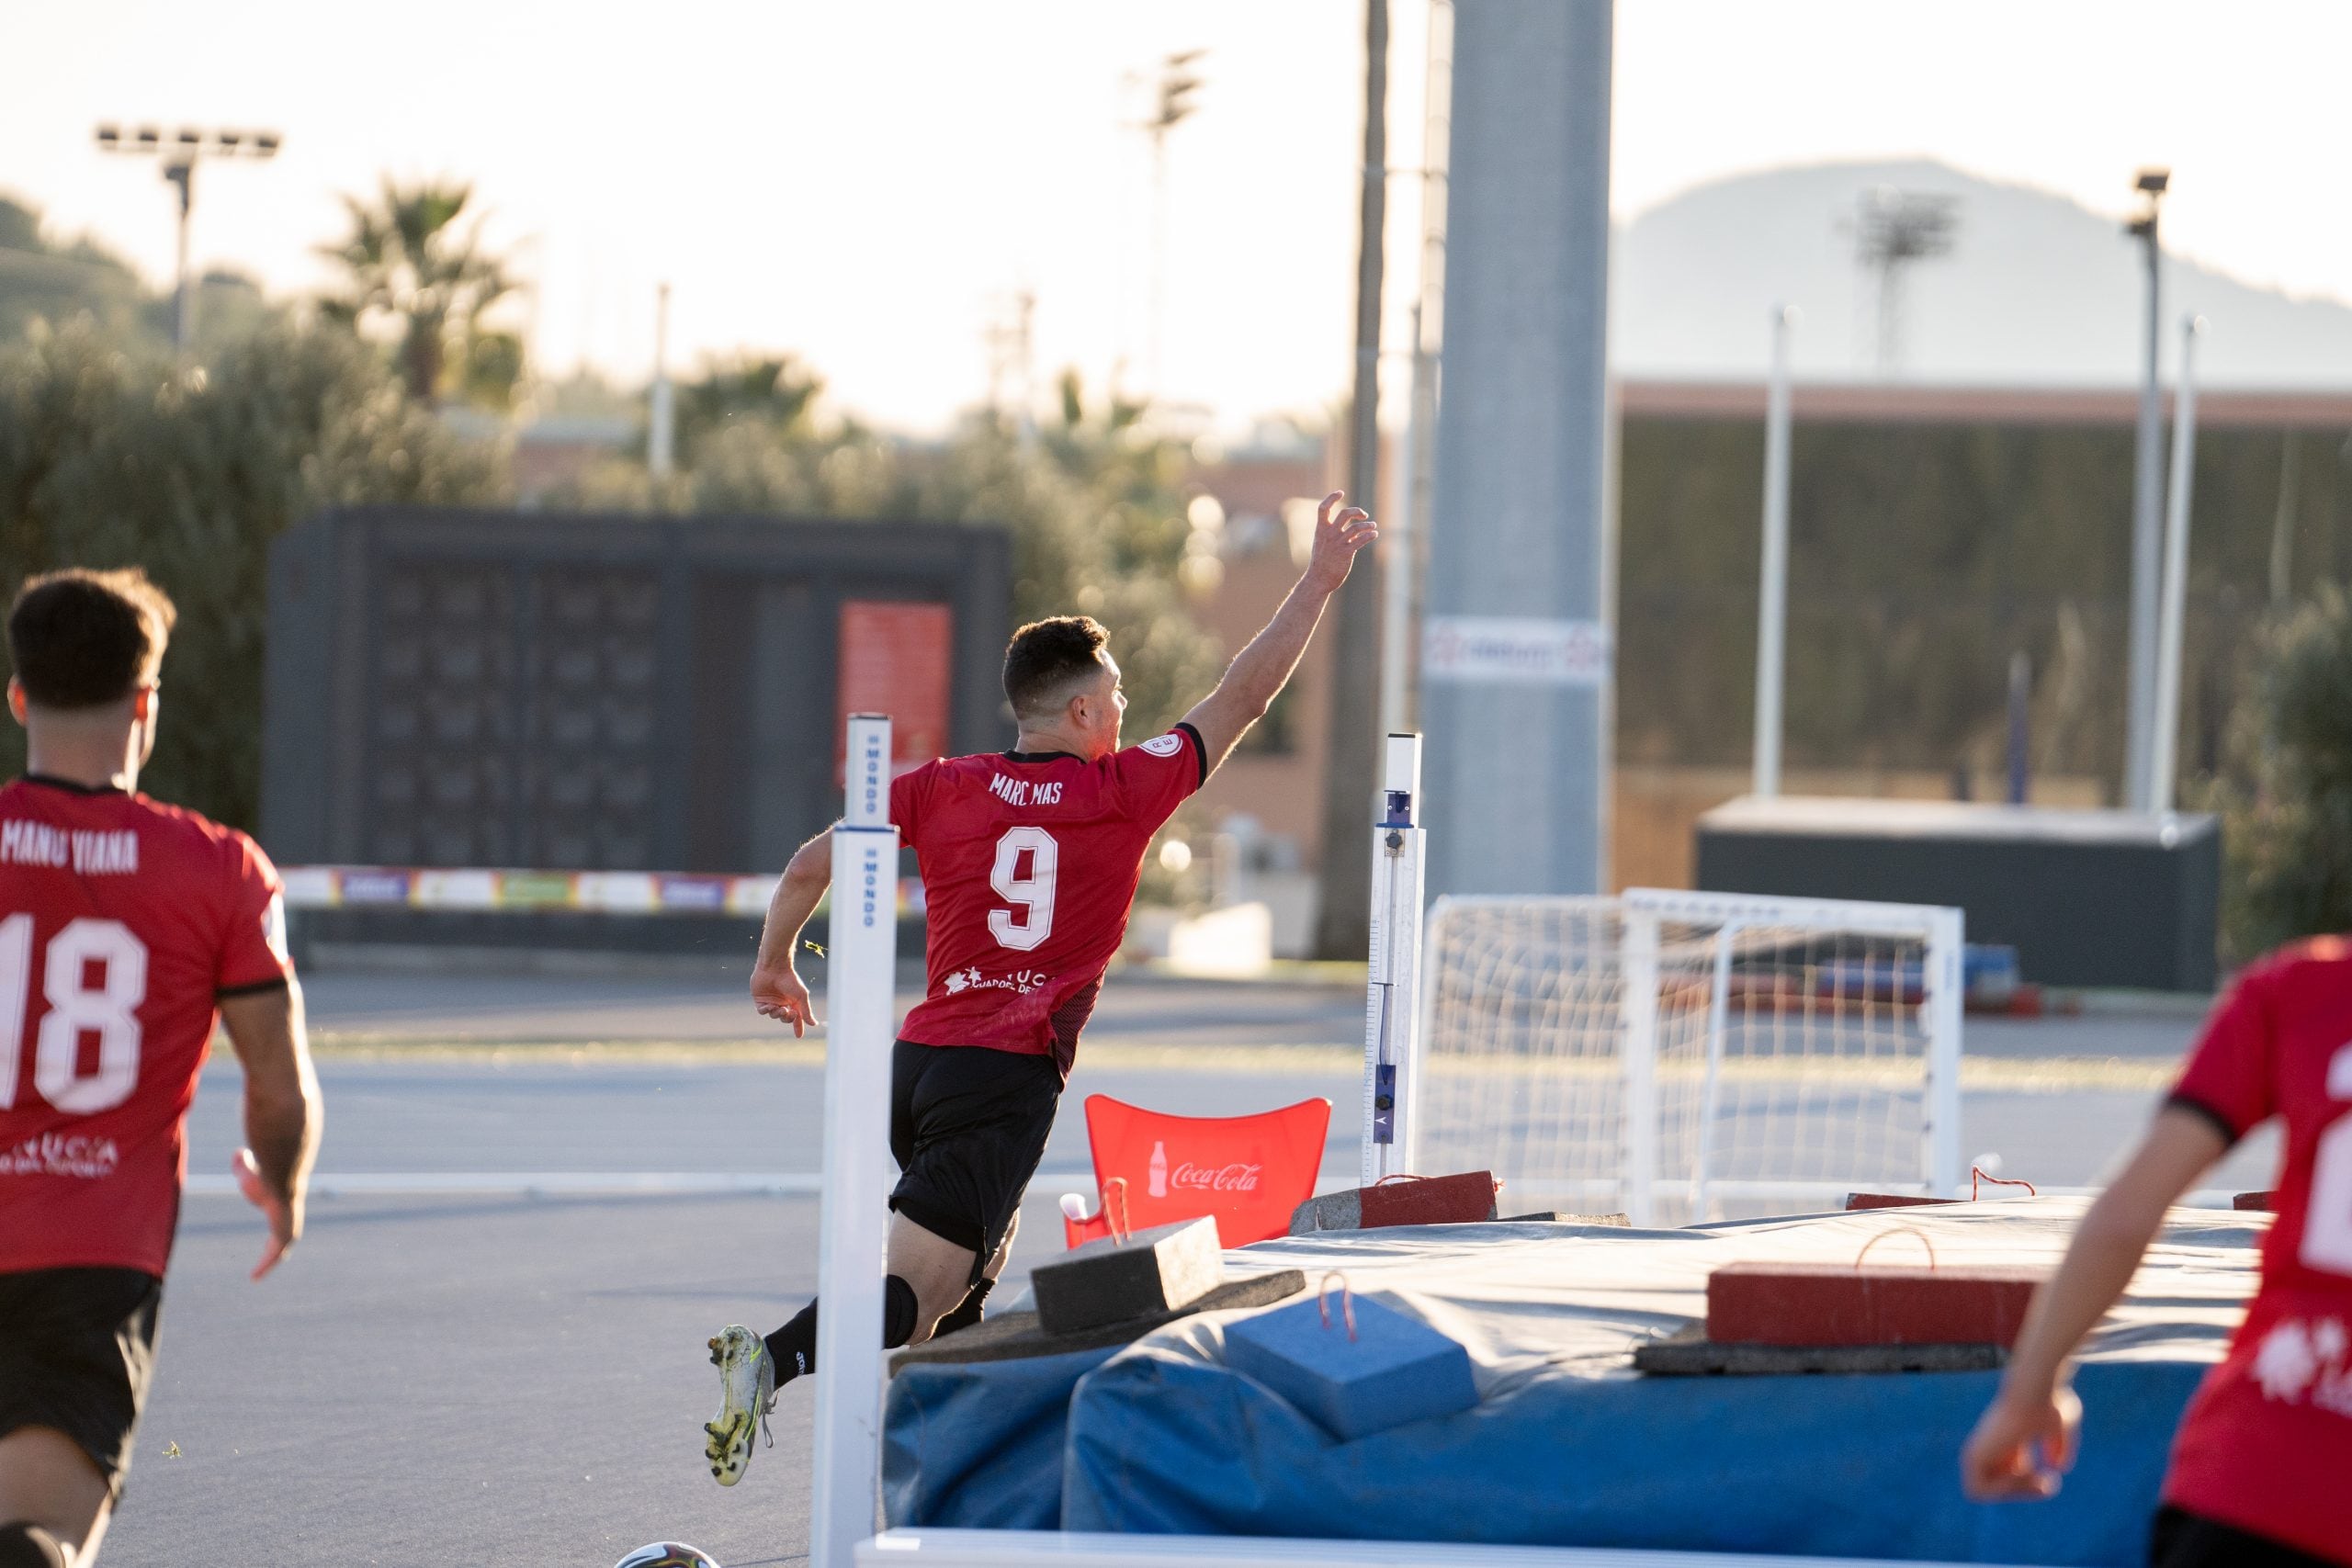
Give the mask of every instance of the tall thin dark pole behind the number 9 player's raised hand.
M 1388 226 L 1388 0 L 1364 0 L 1364 193 L 1357 209 L 1355 395 L 1348 501 L 1367 512 L 1381 484 L 1381 270 Z M 1315 954 L 1352 959 L 1371 943 L 1371 860 L 1357 832 L 1374 816 L 1381 722 L 1381 564 L 1359 555 L 1331 632 L 1331 741 L 1324 748 L 1322 875 Z

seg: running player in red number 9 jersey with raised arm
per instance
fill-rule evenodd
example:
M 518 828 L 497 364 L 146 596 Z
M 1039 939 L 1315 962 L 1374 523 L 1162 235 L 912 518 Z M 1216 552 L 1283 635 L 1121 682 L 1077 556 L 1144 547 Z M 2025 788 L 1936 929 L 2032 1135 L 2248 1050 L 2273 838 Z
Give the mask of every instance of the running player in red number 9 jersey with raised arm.
M 1080 1030 L 1127 936 L 1143 851 L 1209 780 L 1298 668 L 1324 602 L 1371 517 L 1324 496 L 1308 567 L 1225 679 L 1176 729 L 1120 748 L 1120 665 L 1084 616 L 1035 621 L 1004 649 L 1009 752 L 929 762 L 891 785 L 891 820 L 915 849 L 929 900 L 924 999 L 891 1056 L 891 1194 L 884 1345 L 976 1324 L 1021 1218 Z M 1367 785 L 1369 788 L 1369 785 Z M 783 872 L 760 933 L 753 1004 L 800 1034 L 816 1023 L 793 969 L 800 929 L 833 877 L 830 830 Z M 750 1462 L 774 1399 L 816 1366 L 816 1302 L 760 1340 L 734 1324 L 710 1340 L 722 1408 L 706 1427 L 724 1486 Z

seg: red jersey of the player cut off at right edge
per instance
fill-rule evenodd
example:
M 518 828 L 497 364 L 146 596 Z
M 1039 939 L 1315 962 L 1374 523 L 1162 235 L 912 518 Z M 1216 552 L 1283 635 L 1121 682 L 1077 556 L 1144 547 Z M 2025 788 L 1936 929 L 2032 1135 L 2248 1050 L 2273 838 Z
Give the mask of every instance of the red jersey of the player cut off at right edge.
M 2286 1119 L 2263 1286 L 2173 1441 L 2164 1500 L 2352 1563 L 2352 943 L 2239 976 L 2173 1091 L 2234 1143 Z

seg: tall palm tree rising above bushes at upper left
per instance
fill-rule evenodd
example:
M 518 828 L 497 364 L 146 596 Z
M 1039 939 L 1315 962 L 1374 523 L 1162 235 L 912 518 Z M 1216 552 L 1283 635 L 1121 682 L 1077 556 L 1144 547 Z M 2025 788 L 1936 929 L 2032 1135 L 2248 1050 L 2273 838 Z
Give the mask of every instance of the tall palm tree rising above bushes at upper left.
M 473 186 L 390 176 L 374 202 L 343 197 L 350 233 L 318 247 L 350 273 L 346 294 L 322 301 L 329 320 L 353 329 L 393 322 L 395 357 L 409 395 L 463 395 L 503 407 L 522 376 L 522 343 L 492 331 L 482 315 L 515 289 L 506 261 L 482 249 L 480 221 L 459 228 Z

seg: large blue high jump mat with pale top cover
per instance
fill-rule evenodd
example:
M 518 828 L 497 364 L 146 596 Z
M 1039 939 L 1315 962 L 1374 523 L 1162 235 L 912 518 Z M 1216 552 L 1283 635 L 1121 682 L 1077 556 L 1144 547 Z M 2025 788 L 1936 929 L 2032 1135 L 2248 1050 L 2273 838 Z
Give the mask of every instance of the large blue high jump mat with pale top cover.
M 891 1378 L 891 1526 L 1458 1540 L 1877 1556 L 2145 1561 L 2180 1410 L 2220 1359 L 2267 1215 L 2178 1208 L 2077 1375 L 2084 1446 L 2051 1502 L 1971 1505 L 1959 1443 L 1999 1373 L 1651 1378 L 1632 1349 L 1705 1316 L 1726 1262 L 2049 1269 L 2079 1199 L 1689 1229 L 1446 1225 L 1265 1241 L 1232 1274 L 1345 1274 L 1470 1352 L 1479 1403 L 1357 1441 L 1225 1363 L 1242 1314 L 1028 1361 Z M 1924 1260 L 1924 1258 L 1922 1258 Z

